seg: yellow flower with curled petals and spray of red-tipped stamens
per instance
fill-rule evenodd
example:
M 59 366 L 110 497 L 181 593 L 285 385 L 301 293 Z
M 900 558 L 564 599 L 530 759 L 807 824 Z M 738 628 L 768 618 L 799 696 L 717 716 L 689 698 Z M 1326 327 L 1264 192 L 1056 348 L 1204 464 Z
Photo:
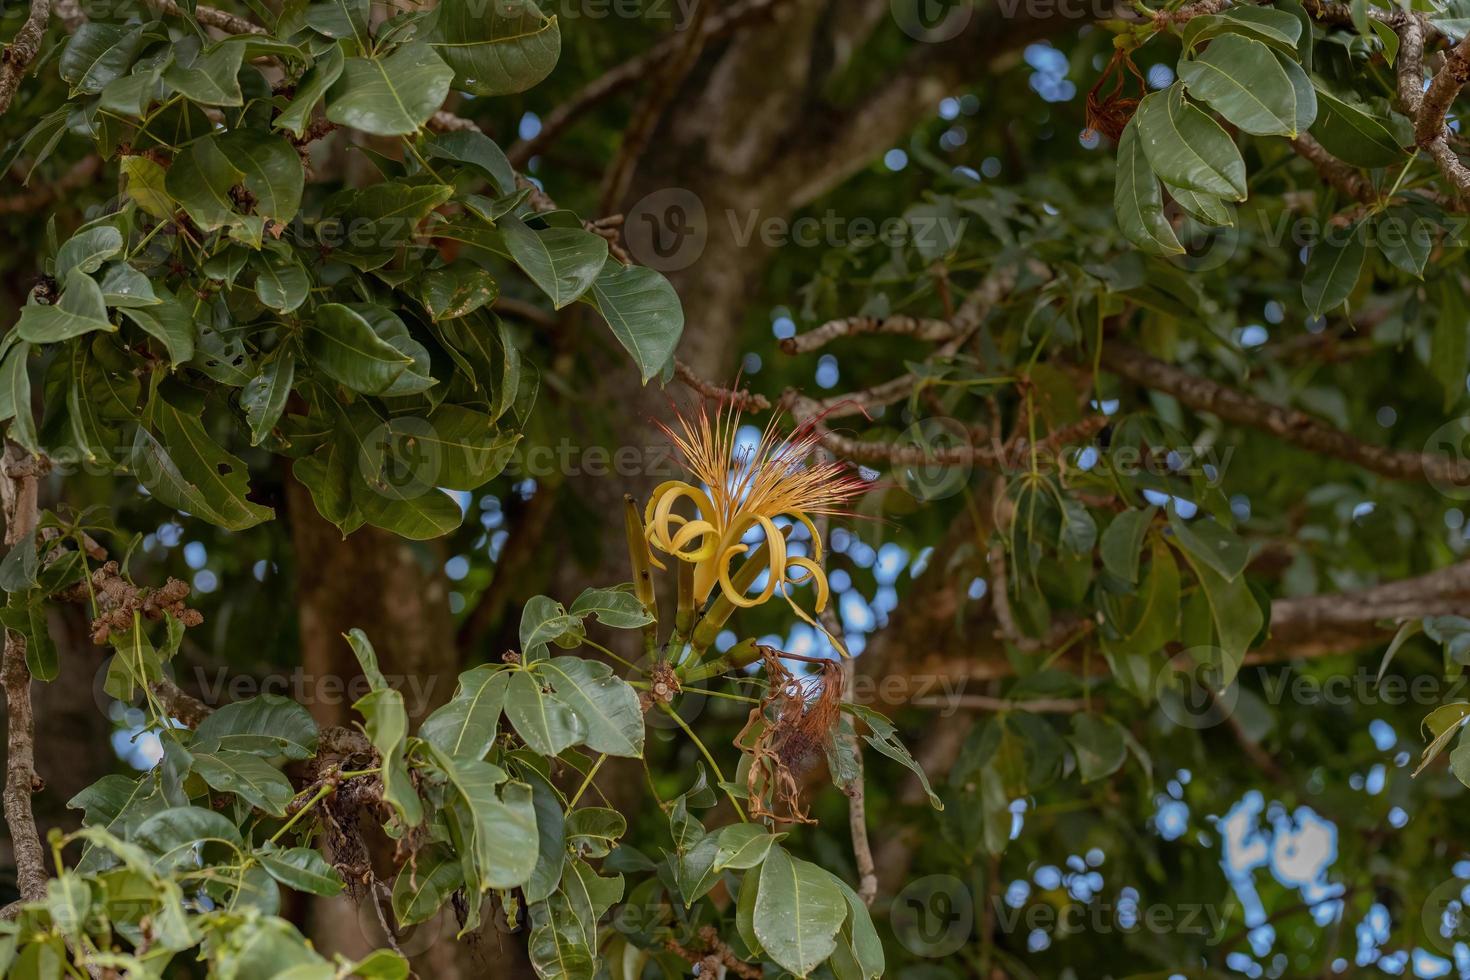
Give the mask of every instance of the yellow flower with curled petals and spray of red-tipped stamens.
M 648 544 L 694 566 L 697 604 L 703 604 L 716 585 L 726 599 L 745 608 L 760 605 L 781 591 L 801 619 L 820 629 L 791 599 L 788 586 L 814 582 L 816 611 L 826 608 L 829 588 L 822 572 L 822 538 L 811 517 L 845 513 L 842 505 L 867 485 L 838 463 L 810 460 L 820 442 L 814 422 L 782 436 L 776 428 L 779 414 L 773 413 L 760 442 L 738 451 L 735 436 L 741 416 L 736 408 L 726 406 L 711 420 L 701 404 L 694 422 L 682 414 L 678 419 L 681 432 L 667 426 L 663 430 L 673 439 L 689 473 L 709 491 L 685 480 L 660 483 L 648 498 L 644 514 Z M 675 507 L 681 501 L 691 502 L 697 516 L 676 514 Z M 807 526 L 811 557 L 788 554 L 776 517 Z M 731 582 L 731 564 L 750 551 L 741 538 L 757 526 L 766 536 L 770 573 L 757 595 L 742 595 Z

